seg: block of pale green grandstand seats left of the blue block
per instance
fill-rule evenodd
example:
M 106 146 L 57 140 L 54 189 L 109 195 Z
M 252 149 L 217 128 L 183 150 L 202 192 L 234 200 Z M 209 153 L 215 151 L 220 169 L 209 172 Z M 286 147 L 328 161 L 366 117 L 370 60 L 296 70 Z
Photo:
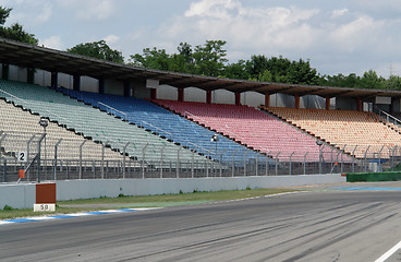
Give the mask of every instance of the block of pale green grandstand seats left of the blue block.
M 194 154 L 187 148 L 177 146 L 144 129 L 48 87 L 1 80 L 0 97 L 32 114 L 47 117 L 50 121 L 86 139 L 110 146 L 121 154 L 125 147 L 125 153 L 132 159 L 146 162 L 155 167 L 161 163 L 171 166 L 171 162 L 174 166 L 178 164 L 178 157 L 180 162 L 186 164 L 191 160 L 206 160 L 205 156 Z

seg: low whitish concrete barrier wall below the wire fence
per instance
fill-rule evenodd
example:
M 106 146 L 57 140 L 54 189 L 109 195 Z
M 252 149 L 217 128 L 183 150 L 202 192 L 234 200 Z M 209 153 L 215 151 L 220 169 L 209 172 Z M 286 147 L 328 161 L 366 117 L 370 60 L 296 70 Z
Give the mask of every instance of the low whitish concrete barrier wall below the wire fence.
M 246 188 L 284 188 L 345 182 L 340 174 L 184 179 L 93 179 L 56 181 L 57 200 L 116 198 L 124 195 L 173 194 L 180 191 L 244 190 Z M 36 201 L 35 183 L 0 184 L 0 209 L 32 209 Z

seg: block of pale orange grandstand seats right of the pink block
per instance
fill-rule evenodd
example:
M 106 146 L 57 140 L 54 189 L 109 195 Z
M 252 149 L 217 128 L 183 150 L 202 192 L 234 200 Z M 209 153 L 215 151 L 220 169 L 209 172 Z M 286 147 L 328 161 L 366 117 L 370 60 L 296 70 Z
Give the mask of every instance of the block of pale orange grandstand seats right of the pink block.
M 344 148 L 357 158 L 380 153 L 389 158 L 390 148 L 401 145 L 401 135 L 378 121 L 373 112 L 353 110 L 295 109 L 282 107 L 263 108 L 316 138 Z M 356 150 L 355 150 L 356 148 Z

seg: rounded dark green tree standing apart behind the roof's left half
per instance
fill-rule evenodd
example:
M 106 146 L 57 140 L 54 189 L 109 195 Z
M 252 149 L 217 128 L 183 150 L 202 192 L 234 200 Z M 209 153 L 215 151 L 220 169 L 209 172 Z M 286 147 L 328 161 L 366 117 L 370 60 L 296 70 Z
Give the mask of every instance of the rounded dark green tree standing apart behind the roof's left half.
M 118 50 L 111 49 L 105 40 L 78 44 L 72 48 L 66 49 L 68 52 L 76 53 L 107 61 L 124 63 L 124 57 Z

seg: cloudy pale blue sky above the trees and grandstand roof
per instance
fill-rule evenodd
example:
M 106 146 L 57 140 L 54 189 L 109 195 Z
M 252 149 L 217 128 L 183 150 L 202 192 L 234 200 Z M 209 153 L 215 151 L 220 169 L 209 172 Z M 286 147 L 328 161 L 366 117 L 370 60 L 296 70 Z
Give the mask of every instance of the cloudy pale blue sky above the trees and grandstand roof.
M 399 0 L 2 0 L 39 44 L 65 50 L 106 39 L 125 59 L 143 48 L 227 40 L 230 62 L 252 55 L 309 59 L 323 74 L 401 75 Z M 391 67 L 390 67 L 391 64 Z

